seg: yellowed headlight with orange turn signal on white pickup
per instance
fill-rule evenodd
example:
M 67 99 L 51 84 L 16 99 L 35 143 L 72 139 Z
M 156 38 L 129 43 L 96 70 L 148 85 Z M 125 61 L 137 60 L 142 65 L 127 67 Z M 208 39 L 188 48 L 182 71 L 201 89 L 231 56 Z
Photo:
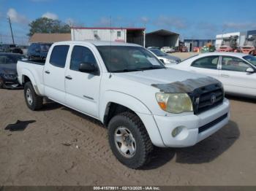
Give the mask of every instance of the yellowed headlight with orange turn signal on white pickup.
M 166 112 L 193 112 L 192 101 L 187 93 L 157 93 L 156 98 L 161 109 Z

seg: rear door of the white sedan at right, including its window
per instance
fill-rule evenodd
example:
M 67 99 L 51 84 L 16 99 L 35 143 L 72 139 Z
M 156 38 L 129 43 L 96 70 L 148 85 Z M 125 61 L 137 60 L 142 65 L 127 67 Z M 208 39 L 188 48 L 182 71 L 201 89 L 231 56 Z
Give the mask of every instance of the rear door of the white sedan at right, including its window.
M 219 79 L 219 55 L 198 58 L 191 63 L 189 71 Z

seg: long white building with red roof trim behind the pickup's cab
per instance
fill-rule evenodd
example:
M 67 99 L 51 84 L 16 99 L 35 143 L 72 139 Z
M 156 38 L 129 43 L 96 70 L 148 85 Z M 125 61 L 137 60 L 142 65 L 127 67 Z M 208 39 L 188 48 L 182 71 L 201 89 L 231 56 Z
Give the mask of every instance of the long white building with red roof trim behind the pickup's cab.
M 71 28 L 72 40 L 129 42 L 145 47 L 145 28 Z

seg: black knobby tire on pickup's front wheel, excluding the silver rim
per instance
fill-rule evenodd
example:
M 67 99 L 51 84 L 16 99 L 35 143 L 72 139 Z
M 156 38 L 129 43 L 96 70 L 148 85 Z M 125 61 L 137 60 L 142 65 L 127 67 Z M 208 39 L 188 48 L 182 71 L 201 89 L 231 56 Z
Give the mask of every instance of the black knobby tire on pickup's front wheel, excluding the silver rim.
M 118 127 L 125 127 L 131 133 L 136 142 L 135 154 L 132 157 L 121 155 L 116 146 L 115 132 Z M 141 168 L 151 159 L 153 144 L 148 136 L 148 132 L 140 118 L 132 112 L 123 112 L 113 117 L 108 124 L 108 141 L 110 148 L 116 158 L 129 168 Z

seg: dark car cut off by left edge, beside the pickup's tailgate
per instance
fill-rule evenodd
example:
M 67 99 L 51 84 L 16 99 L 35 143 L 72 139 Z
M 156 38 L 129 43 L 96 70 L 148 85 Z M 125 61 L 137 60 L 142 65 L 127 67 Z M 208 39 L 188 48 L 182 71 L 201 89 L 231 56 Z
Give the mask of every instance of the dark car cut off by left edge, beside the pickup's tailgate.
M 19 87 L 17 62 L 24 58 L 23 55 L 14 53 L 0 53 L 0 88 Z

